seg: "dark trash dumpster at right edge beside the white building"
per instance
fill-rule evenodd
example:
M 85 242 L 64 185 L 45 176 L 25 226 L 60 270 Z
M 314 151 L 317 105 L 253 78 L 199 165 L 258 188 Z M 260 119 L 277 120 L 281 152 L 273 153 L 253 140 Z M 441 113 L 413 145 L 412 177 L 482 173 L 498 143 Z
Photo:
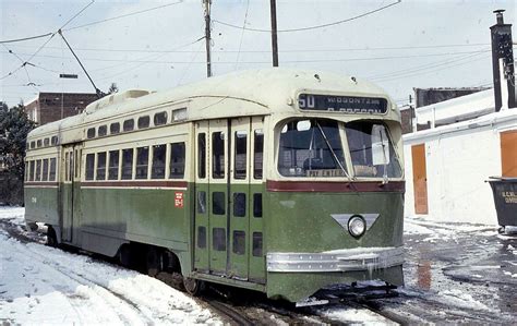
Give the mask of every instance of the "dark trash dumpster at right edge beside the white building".
M 517 178 L 490 177 L 500 226 L 517 226 Z

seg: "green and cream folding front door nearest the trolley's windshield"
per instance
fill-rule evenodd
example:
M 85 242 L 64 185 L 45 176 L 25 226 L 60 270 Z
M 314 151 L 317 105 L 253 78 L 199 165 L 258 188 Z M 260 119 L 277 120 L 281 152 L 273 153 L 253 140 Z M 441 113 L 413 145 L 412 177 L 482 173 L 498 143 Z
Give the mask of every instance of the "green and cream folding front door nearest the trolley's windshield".
M 262 118 L 200 122 L 195 137 L 194 268 L 263 281 Z

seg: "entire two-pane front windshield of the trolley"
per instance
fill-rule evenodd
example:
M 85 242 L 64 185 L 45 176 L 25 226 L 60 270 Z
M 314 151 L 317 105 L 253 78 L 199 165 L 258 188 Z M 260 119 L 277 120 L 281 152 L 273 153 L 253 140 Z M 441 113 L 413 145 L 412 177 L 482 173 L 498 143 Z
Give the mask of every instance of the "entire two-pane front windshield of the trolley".
M 400 178 L 402 173 L 383 122 L 329 119 L 300 119 L 282 125 L 278 171 L 284 177 L 348 179 Z

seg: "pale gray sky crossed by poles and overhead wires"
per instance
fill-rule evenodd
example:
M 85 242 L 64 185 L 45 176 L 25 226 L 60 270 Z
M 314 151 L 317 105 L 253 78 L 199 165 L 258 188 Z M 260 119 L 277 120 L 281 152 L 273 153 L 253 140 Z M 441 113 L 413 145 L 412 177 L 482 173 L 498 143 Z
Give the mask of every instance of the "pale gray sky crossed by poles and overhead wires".
M 0 0 L 0 40 L 56 32 L 89 2 Z M 393 2 L 397 0 L 277 0 L 278 28 L 342 21 Z M 63 35 L 101 90 L 113 82 L 121 90 L 172 88 L 206 77 L 201 4 L 97 0 L 63 28 Z M 132 14 L 156 7 L 161 8 Z M 492 11 L 505 9 L 505 22 L 515 24 L 515 0 L 402 0 L 347 23 L 279 33 L 279 65 L 365 77 L 399 104 L 407 102 L 412 87 L 486 86 L 492 81 Z M 122 15 L 128 16 L 110 20 Z M 219 23 L 268 29 L 268 0 L 213 0 L 212 19 L 215 75 L 272 65 L 269 33 Z M 93 92 L 61 37 L 49 39 L 0 45 L 0 100 L 12 106 L 37 92 Z M 19 69 L 27 60 L 34 65 Z M 59 79 L 60 72 L 79 79 Z

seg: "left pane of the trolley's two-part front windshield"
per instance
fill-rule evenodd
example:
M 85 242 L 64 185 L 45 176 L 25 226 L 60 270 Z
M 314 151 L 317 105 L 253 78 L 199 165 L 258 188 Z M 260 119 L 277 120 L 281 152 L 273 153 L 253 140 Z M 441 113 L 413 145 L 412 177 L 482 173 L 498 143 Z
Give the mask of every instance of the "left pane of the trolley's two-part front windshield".
M 310 119 L 286 123 L 280 132 L 278 171 L 285 177 L 347 176 L 338 122 Z

